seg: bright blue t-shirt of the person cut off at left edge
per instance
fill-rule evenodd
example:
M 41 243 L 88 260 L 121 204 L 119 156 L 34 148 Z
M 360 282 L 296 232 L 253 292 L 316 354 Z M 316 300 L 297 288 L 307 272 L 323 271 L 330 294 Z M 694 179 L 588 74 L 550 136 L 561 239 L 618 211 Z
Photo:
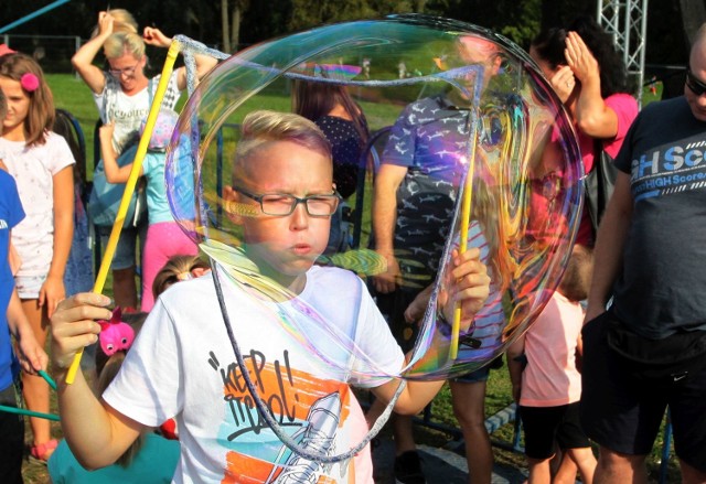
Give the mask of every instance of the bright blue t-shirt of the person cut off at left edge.
M 8 251 L 10 230 L 24 218 L 18 185 L 12 175 L 0 170 L 0 389 L 12 384 L 12 346 L 8 327 L 8 304 L 14 288 Z

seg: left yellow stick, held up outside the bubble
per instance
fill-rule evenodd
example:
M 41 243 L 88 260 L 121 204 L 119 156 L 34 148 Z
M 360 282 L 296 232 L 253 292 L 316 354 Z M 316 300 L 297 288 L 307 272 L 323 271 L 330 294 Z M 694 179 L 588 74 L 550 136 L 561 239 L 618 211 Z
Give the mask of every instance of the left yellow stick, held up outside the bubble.
M 169 52 L 167 53 L 167 58 L 164 60 L 164 67 L 162 68 L 162 77 L 159 79 L 159 84 L 157 85 L 154 99 L 152 100 L 152 106 L 150 107 L 150 112 L 147 117 L 147 122 L 145 123 L 145 132 L 142 133 L 140 143 L 137 147 L 137 153 L 135 154 L 135 161 L 132 162 L 130 176 L 125 184 L 125 193 L 122 193 L 122 200 L 120 201 L 118 214 L 116 215 L 115 223 L 113 224 L 110 238 L 108 239 L 106 251 L 103 256 L 103 260 L 100 261 L 100 268 L 98 269 L 98 275 L 96 276 L 96 282 L 94 283 L 93 292 L 101 293 L 103 288 L 106 283 L 108 269 L 110 268 L 110 262 L 113 261 L 113 256 L 115 255 L 115 249 L 117 248 L 118 239 L 120 238 L 122 223 L 125 222 L 125 216 L 128 213 L 128 206 L 130 205 L 132 193 L 135 193 L 135 185 L 137 184 L 137 181 L 140 178 L 140 172 L 142 171 L 142 161 L 145 160 L 145 154 L 147 153 L 150 138 L 152 138 L 152 131 L 154 130 L 154 123 L 157 122 L 157 115 L 159 114 L 159 109 L 162 105 L 162 99 L 164 98 L 164 94 L 167 93 L 167 86 L 169 85 L 169 78 L 171 77 L 172 71 L 174 69 L 174 62 L 176 61 L 179 50 L 180 45 L 178 42 L 172 42 L 172 44 L 169 46 Z M 66 383 L 68 385 L 73 384 L 74 379 L 76 378 L 76 372 L 78 370 L 78 365 L 81 364 L 81 357 L 83 356 L 83 354 L 84 351 L 83 348 L 81 348 L 78 352 L 76 352 L 76 355 L 74 355 L 74 361 L 68 367 L 68 373 L 66 373 Z

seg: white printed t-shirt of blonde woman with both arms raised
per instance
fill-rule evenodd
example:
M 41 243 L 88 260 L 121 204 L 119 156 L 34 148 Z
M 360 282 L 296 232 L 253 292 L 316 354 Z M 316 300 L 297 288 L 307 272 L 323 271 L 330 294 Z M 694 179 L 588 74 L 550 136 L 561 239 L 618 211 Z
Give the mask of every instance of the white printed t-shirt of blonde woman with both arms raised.
M 178 71 L 169 77 L 167 92 L 162 99 L 162 107 L 174 109 L 181 92 L 178 87 Z M 115 122 L 113 132 L 113 148 L 121 153 L 126 143 L 139 133 L 140 122 L 147 118 L 161 74 L 152 77 L 147 87 L 132 96 L 125 94 L 120 83 L 114 76 L 105 73 L 106 85 L 103 93 L 93 95 L 103 122 Z

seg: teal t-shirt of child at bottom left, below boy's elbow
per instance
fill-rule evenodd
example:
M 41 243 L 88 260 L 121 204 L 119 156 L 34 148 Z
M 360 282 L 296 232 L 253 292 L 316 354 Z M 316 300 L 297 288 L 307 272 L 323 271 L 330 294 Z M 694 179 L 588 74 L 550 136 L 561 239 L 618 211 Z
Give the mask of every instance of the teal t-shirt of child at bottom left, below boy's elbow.
M 76 461 L 66 441 L 62 440 L 49 459 L 47 469 L 54 484 L 170 483 L 179 462 L 179 441 L 148 433 L 142 448 L 128 467 L 113 464 L 86 471 Z

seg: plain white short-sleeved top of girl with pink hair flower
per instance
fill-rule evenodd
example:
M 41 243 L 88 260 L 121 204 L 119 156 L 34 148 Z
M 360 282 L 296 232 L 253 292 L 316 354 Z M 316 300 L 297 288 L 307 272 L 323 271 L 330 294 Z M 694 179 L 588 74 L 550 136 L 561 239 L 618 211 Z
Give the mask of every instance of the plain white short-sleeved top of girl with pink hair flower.
M 22 261 L 17 277 L 44 277 L 54 256 L 54 175 L 75 163 L 64 138 L 28 148 L 24 141 L 0 138 L 0 152 L 18 183 L 26 217 L 12 229 L 12 245 Z

